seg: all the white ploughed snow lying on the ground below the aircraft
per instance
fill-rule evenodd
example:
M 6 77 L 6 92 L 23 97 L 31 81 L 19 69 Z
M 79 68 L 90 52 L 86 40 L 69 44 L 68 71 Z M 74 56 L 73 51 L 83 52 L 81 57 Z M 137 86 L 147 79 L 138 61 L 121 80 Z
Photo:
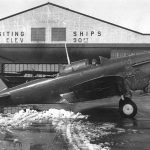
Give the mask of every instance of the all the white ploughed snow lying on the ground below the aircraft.
M 13 129 L 28 129 L 34 123 L 51 123 L 74 150 L 110 150 L 109 143 L 97 144 L 92 141 L 113 134 L 112 129 L 117 129 L 113 123 L 91 123 L 81 113 L 57 109 L 42 112 L 26 109 L 15 114 L 0 115 L 0 134 L 13 134 Z M 121 132 L 125 131 L 117 129 L 115 134 Z

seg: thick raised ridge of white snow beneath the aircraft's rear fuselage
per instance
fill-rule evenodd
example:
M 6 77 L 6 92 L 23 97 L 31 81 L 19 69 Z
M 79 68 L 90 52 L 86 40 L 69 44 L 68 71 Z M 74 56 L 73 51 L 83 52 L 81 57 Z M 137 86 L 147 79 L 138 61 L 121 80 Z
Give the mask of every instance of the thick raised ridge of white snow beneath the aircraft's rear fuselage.
M 59 121 L 72 119 L 86 119 L 87 116 L 81 113 L 74 114 L 70 111 L 49 109 L 48 111 L 37 112 L 35 110 L 20 110 L 15 114 L 8 114 L 6 117 L 0 116 L 0 126 L 8 128 L 28 128 L 33 123 L 52 123 L 59 124 Z M 59 126 L 59 125 L 58 125 Z

